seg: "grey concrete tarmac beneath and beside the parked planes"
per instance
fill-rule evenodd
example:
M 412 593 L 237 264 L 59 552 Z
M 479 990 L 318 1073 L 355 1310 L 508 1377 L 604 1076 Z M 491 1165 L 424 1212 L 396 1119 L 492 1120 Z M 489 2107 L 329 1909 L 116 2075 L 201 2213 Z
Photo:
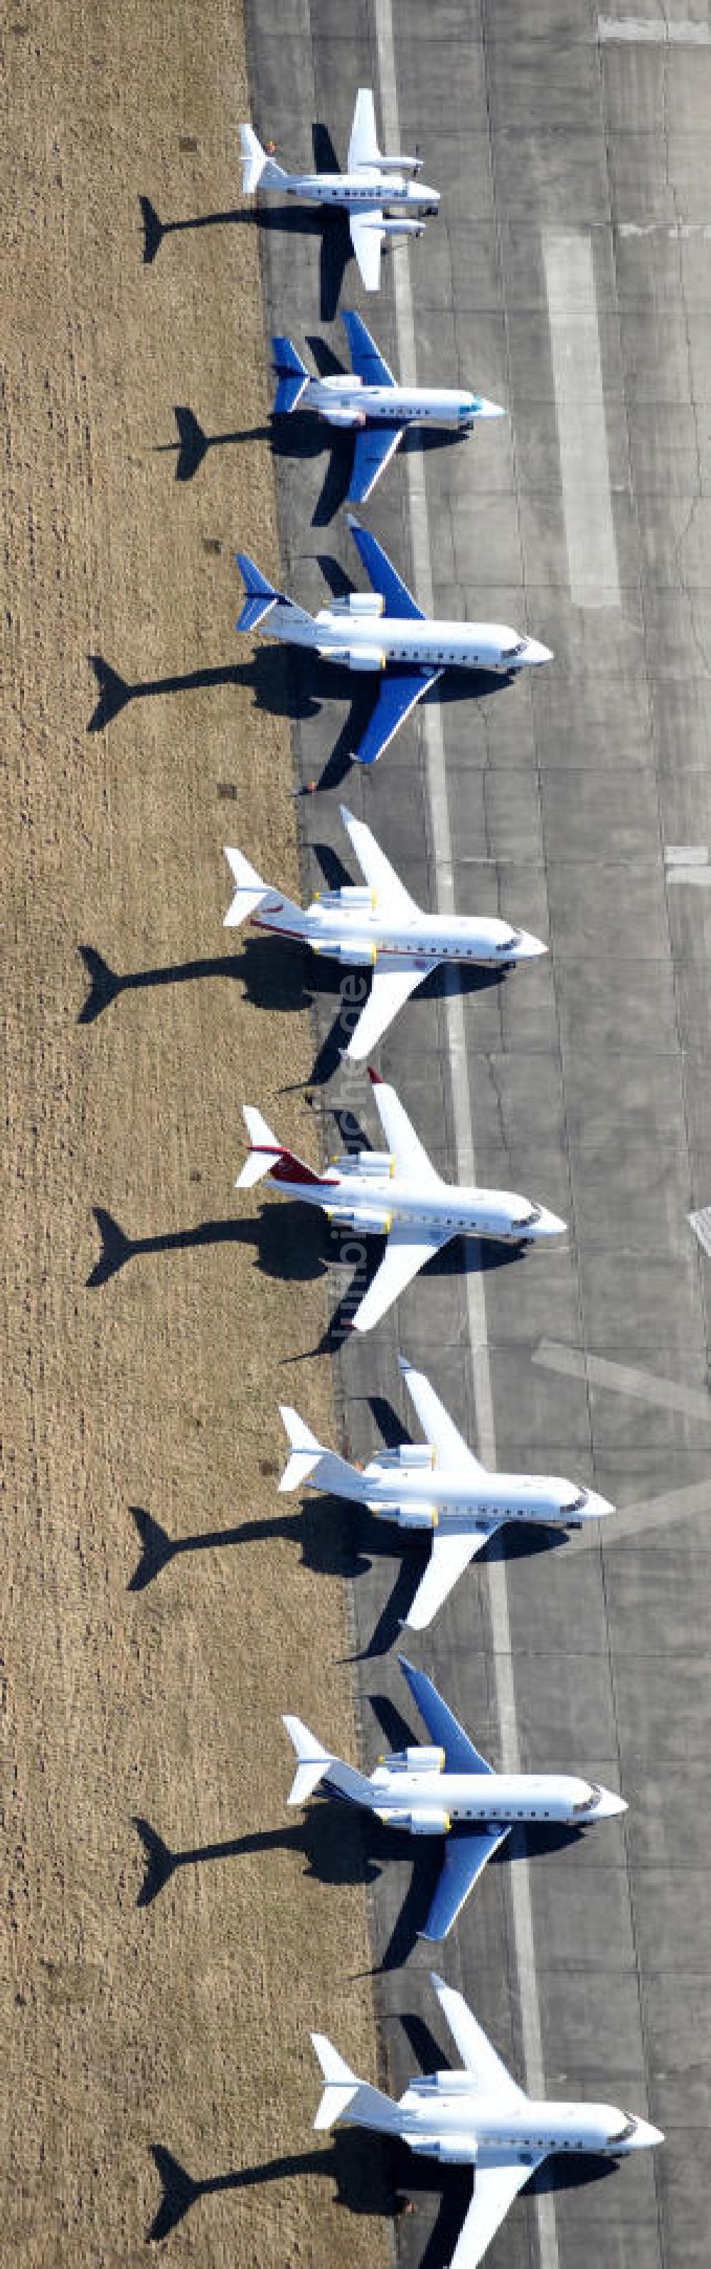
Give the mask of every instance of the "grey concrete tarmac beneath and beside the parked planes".
M 375 86 L 379 111 L 375 7 L 248 0 L 252 118 L 286 166 L 311 163 L 311 125 L 345 161 L 359 84 Z M 600 39 L 584 0 L 395 5 L 402 147 L 423 145 L 443 202 L 420 243 L 384 256 L 379 295 L 361 290 L 352 259 L 341 275 L 338 225 L 261 204 L 270 329 L 345 359 L 336 304 L 357 306 L 398 374 L 393 261 L 409 261 L 423 383 L 470 381 L 509 406 L 507 422 L 423 454 L 434 606 L 511 622 L 554 651 L 513 685 L 472 694 L 463 676 L 445 678 L 443 737 L 457 910 L 500 908 L 550 942 L 545 962 L 463 998 L 477 1173 L 552 1205 L 570 1230 L 525 1262 L 452 1248 L 370 1339 L 334 1330 L 354 1457 L 382 1429 L 411 1427 L 398 1346 L 477 1448 L 463 1268 L 484 1268 L 497 1461 L 568 1473 L 622 1509 L 618 1532 L 611 1520 L 593 1543 L 504 1534 L 500 1554 L 522 1768 L 620 1786 L 627 1820 L 559 1849 L 509 1847 L 434 1967 L 525 2078 L 511 1879 L 527 1867 L 545 2090 L 650 2115 L 666 2146 L 575 2181 L 554 2162 L 511 2210 L 493 2269 L 709 2260 L 709 1262 L 686 1216 L 711 1193 L 711 903 L 663 851 L 711 844 L 711 48 L 695 36 L 695 0 L 670 14 L 675 39 L 659 36 L 656 5 L 650 36 L 627 18 L 616 39 L 604 18 Z M 275 429 L 275 452 L 284 588 L 318 606 L 320 560 L 327 579 L 363 585 L 338 511 L 348 440 L 295 417 Z M 361 517 L 411 579 L 402 452 Z M 250 529 L 234 542 L 250 549 Z M 304 658 L 275 653 L 264 669 L 264 699 L 293 715 L 300 781 L 323 783 L 302 803 L 304 887 L 334 874 L 334 858 L 354 878 L 345 801 L 432 905 L 423 717 L 363 774 L 348 760 L 352 694 L 368 699 L 363 681 Z M 241 840 L 250 855 L 248 815 Z M 338 971 L 316 980 L 307 962 L 304 973 L 318 1023 L 309 1155 L 320 1139 L 334 1148 L 334 1105 L 379 1146 L 368 1080 L 334 1069 Z M 407 1005 L 377 1060 L 452 1175 L 443 985 Z M 345 1289 L 334 1239 L 334 1309 Z M 309 1364 L 288 1398 L 309 1418 Z M 672 1518 L 654 1520 L 670 1493 Z M 343 1507 L 325 1504 L 325 1520 L 352 1536 L 370 1765 L 382 1736 L 398 1743 L 398 1713 L 420 1734 L 395 1647 L 423 1554 Z M 404 1634 L 404 1652 L 497 1763 L 486 1561 L 429 1631 Z M 425 2028 L 450 2056 L 432 1949 L 416 1940 L 436 1863 L 425 1842 L 393 1854 L 377 1836 L 370 1856 L 386 2081 L 400 2090 L 432 2051 Z M 313 2024 L 329 2031 L 329 2010 Z M 348 2056 L 348 2038 L 338 2047 Z M 438 2181 L 407 2158 L 395 2178 L 416 2201 L 398 2221 L 400 2258 L 438 2269 L 470 2178 Z

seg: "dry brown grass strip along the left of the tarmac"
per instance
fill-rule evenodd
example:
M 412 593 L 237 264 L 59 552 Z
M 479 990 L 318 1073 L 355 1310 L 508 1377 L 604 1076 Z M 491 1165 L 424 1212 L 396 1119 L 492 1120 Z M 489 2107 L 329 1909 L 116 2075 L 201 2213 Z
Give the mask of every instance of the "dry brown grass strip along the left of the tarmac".
M 250 1096 L 318 1155 L 300 971 L 220 928 L 225 842 L 298 887 L 232 629 L 270 456 L 170 454 L 173 404 L 264 424 L 259 231 L 139 209 L 241 204 L 241 11 L 9 0 L 2 50 L 2 2260 L 377 2269 L 377 2151 L 311 2135 L 309 2028 L 375 2069 L 359 1847 L 286 1813 L 279 1722 L 354 1743 L 348 1522 L 277 1495 L 279 1398 L 334 1425 L 325 1241 L 232 1191 Z

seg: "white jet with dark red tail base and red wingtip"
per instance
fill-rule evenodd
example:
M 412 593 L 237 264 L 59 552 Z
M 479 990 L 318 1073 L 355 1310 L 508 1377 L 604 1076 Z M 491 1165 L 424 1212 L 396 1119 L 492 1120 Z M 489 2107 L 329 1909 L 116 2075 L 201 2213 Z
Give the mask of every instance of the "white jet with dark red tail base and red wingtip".
M 354 1332 L 370 1332 L 418 1268 L 452 1237 L 495 1237 L 511 1246 L 534 1246 L 566 1230 L 545 1205 L 532 1205 L 511 1189 L 459 1189 L 457 1182 L 443 1182 L 395 1089 L 370 1066 L 368 1080 L 388 1150 L 348 1150 L 345 1157 L 332 1159 L 327 1173 L 313 1173 L 277 1141 L 261 1112 L 245 1103 L 250 1155 L 234 1184 L 250 1189 L 266 1175 L 284 1198 L 320 1205 L 327 1221 L 338 1228 L 388 1239 L 373 1284 L 354 1311 Z

